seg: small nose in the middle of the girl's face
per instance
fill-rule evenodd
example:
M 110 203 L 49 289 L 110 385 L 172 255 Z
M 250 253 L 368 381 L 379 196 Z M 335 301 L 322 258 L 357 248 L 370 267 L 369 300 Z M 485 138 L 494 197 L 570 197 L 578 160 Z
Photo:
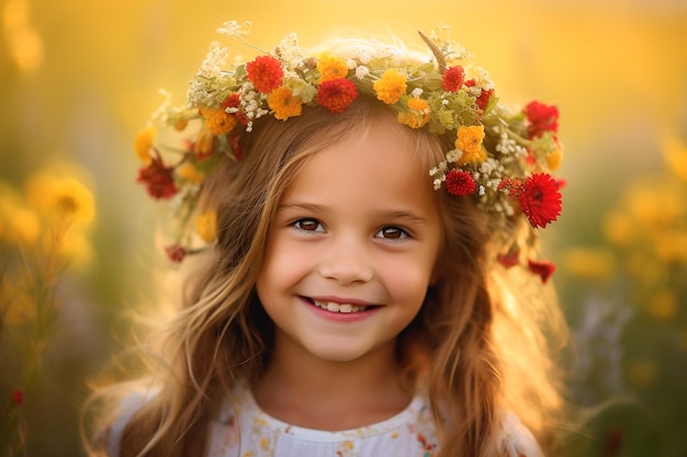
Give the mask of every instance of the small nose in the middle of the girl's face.
M 331 240 L 319 264 L 319 274 L 340 285 L 368 283 L 374 276 L 368 245 L 362 240 Z

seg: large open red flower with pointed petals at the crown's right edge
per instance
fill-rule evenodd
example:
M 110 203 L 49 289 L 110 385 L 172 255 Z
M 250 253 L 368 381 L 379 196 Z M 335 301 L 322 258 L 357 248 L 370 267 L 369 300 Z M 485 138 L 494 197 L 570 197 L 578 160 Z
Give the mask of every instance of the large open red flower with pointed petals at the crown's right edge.
M 520 209 L 534 228 L 547 227 L 561 214 L 559 184 L 547 173 L 534 173 L 528 176 L 519 188 L 515 190 L 515 196 L 520 204 Z

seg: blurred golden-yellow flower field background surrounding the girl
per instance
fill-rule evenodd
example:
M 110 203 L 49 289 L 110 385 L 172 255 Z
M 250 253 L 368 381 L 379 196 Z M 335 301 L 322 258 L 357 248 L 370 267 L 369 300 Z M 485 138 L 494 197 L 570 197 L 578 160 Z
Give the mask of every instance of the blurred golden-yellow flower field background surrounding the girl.
M 3 456 L 83 455 L 78 408 L 165 265 L 133 139 L 230 19 L 264 48 L 443 21 L 497 95 L 559 105 L 544 242 L 595 412 L 570 455 L 687 456 L 685 0 L 0 0 L 0 447 L 23 448 Z

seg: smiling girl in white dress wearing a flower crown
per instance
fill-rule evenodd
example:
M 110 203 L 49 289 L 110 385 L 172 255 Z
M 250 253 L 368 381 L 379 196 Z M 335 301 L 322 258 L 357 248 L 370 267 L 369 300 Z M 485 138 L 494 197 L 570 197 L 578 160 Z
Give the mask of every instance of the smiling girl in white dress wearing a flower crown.
M 236 22 L 219 32 L 247 43 Z M 137 393 L 99 393 L 115 402 L 93 454 L 551 445 L 548 343 L 564 327 L 534 229 L 561 210 L 558 111 L 508 111 L 468 53 L 420 38 L 424 57 L 376 42 L 303 54 L 291 35 L 228 70 L 213 45 L 189 105 L 156 113 L 181 134 L 139 135 L 139 182 L 174 202 L 169 256 L 202 251 L 202 266 Z

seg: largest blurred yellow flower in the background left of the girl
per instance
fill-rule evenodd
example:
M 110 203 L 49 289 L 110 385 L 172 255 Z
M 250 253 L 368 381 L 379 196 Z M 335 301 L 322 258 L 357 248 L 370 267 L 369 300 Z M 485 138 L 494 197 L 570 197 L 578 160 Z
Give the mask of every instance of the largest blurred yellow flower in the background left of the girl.
M 93 194 L 75 178 L 56 178 L 49 171 L 34 173 L 26 183 L 29 201 L 49 218 L 88 225 L 95 217 Z

